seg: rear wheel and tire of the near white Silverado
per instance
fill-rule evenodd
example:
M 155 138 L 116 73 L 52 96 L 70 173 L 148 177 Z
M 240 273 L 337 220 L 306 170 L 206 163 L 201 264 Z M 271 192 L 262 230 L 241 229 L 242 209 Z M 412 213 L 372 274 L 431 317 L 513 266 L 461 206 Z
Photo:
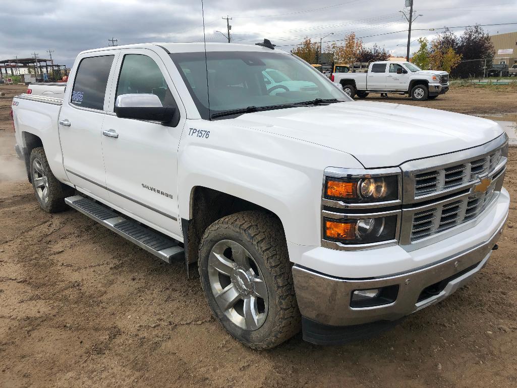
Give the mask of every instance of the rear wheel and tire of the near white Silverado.
M 71 196 L 74 189 L 59 182 L 54 176 L 43 147 L 32 150 L 30 163 L 31 180 L 40 207 L 47 213 L 66 210 L 68 206 L 65 198 Z M 44 193 L 45 189 L 47 191 Z

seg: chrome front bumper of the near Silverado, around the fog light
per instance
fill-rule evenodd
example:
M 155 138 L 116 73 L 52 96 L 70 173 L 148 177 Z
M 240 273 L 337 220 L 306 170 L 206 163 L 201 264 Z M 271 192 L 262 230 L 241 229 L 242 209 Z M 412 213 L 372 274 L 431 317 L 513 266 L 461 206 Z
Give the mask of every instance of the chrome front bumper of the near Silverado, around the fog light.
M 505 217 L 506 221 L 506 217 Z M 504 222 L 482 244 L 452 257 L 416 270 L 373 279 L 335 278 L 294 265 L 293 280 L 301 315 L 311 321 L 350 326 L 376 321 L 394 321 L 424 307 L 438 303 L 468 282 L 488 261 L 499 240 Z M 436 295 L 422 299 L 422 291 L 447 280 Z M 398 285 L 393 303 L 374 307 L 350 306 L 355 290 L 376 289 Z

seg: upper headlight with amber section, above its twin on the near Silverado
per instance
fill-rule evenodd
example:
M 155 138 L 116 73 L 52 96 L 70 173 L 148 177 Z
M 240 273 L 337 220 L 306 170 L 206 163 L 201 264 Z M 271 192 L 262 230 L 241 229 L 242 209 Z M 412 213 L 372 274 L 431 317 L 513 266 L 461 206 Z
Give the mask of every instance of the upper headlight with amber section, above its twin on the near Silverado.
M 325 198 L 343 202 L 385 202 L 399 199 L 397 175 L 326 178 Z

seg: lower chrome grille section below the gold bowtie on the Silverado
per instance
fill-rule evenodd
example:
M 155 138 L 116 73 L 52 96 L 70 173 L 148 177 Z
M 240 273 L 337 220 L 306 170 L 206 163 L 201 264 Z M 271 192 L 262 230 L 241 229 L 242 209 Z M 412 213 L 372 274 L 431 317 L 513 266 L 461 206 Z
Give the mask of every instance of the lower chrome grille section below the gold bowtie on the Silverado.
M 501 172 L 483 193 L 476 195 L 467 193 L 460 199 L 452 198 L 427 210 L 414 213 L 410 241 L 413 243 L 476 218 L 494 198 L 495 188 L 503 177 L 504 174 Z

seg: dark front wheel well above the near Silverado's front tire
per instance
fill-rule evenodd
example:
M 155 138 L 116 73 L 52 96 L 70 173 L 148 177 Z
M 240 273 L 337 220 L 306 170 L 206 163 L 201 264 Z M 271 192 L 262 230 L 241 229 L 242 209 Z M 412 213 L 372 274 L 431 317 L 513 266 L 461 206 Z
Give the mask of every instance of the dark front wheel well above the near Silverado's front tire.
M 222 217 L 247 210 L 262 211 L 278 218 L 275 213 L 242 198 L 203 186 L 192 188 L 190 220 L 182 220 L 182 227 L 188 225 L 188 231 L 183 231 L 188 263 L 197 262 L 197 251 L 206 228 Z

